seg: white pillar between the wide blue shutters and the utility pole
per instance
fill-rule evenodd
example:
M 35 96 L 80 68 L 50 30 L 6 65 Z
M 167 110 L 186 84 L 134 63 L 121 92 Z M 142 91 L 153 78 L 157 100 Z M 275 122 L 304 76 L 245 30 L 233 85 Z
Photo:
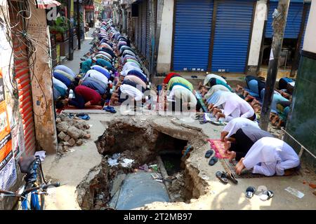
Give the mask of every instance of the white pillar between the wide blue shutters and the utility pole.
M 248 58 L 248 74 L 255 74 L 259 63 L 263 29 L 267 18 L 267 0 L 259 0 L 256 3 L 254 27 L 251 34 L 251 43 Z

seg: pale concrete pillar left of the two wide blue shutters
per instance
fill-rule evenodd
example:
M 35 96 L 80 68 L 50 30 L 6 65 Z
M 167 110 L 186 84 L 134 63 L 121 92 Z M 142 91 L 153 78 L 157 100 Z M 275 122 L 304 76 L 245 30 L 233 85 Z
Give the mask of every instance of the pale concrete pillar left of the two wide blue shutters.
M 170 71 L 173 35 L 173 6 L 174 0 L 164 1 L 157 58 L 158 73 Z

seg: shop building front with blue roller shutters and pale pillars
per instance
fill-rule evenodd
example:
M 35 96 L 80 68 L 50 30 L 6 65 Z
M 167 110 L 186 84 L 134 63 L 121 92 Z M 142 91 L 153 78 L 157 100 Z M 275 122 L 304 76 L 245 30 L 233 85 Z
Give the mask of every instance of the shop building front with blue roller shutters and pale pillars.
M 273 34 L 272 13 L 277 8 L 277 0 L 138 0 L 117 3 L 120 5 L 117 6 L 115 22 L 124 31 L 131 27 L 129 36 L 134 45 L 148 62 L 152 62 L 151 57 L 154 59 L 154 70 L 158 73 L 211 71 L 254 74 L 261 67 L 268 66 Z M 131 15 L 126 8 L 131 8 Z M 309 10 L 310 1 L 291 1 L 279 62 L 284 69 L 291 69 L 292 65 L 294 70 L 297 69 Z M 150 50 L 154 51 L 152 55 Z

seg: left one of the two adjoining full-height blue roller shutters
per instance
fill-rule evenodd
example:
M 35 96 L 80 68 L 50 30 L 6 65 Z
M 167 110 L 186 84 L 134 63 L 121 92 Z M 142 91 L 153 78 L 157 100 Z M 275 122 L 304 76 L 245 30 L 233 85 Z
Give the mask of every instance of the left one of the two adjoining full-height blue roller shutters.
M 177 0 L 173 40 L 173 70 L 206 71 L 213 1 Z

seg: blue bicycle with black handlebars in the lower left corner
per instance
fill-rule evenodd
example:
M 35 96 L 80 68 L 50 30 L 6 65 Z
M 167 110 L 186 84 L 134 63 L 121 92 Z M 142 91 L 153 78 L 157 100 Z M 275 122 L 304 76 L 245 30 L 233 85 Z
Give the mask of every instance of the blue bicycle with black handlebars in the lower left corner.
M 19 210 L 44 210 L 45 195 L 48 195 L 47 188 L 59 187 L 60 183 L 46 182 L 39 156 L 32 155 L 25 159 L 21 157 L 18 164 L 21 172 L 25 174 L 25 185 L 18 188 L 15 193 L 0 190 L 0 195 L 2 197 L 18 197 Z

